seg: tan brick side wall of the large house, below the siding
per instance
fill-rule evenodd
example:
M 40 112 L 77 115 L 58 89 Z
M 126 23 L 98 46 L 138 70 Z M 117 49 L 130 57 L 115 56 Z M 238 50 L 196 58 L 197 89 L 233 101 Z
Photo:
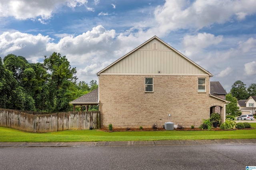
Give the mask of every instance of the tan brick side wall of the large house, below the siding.
M 154 78 L 154 92 L 145 93 L 145 77 Z M 206 92 L 198 93 L 198 78 L 206 78 Z M 184 127 L 202 124 L 213 104 L 209 76 L 100 75 L 101 127 L 158 127 L 171 121 Z M 171 114 L 169 119 L 168 114 Z

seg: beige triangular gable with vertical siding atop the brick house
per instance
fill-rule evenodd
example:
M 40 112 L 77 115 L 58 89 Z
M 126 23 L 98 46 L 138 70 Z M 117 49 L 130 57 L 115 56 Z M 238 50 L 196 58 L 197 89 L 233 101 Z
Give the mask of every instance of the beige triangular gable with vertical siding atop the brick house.
M 156 48 L 155 46 L 156 45 Z M 154 47 L 153 47 L 154 46 Z M 152 37 L 114 63 L 100 70 L 100 74 L 198 74 L 213 76 L 182 53 Z

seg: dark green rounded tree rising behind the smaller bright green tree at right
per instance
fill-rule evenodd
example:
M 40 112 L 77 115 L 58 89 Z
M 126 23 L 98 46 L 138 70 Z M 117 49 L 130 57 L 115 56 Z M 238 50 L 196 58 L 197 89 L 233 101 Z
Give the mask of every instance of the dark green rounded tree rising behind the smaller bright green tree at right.
M 246 100 L 248 99 L 249 95 L 246 91 L 246 84 L 244 84 L 242 81 L 237 80 L 232 85 L 232 88 L 230 90 L 230 94 L 234 96 L 237 100 Z

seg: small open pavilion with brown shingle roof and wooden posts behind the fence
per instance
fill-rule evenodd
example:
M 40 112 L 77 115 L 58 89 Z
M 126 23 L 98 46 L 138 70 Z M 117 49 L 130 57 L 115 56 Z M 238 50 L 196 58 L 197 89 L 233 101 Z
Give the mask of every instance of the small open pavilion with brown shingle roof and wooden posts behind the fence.
M 70 102 L 70 104 L 73 105 L 73 111 L 76 111 L 76 107 L 81 107 L 81 111 L 83 106 L 86 106 L 86 111 L 88 111 L 89 105 L 98 105 L 99 104 L 99 94 L 98 94 L 98 88 L 95 90 L 81 96 L 80 98 L 77 98 L 76 100 L 73 100 Z

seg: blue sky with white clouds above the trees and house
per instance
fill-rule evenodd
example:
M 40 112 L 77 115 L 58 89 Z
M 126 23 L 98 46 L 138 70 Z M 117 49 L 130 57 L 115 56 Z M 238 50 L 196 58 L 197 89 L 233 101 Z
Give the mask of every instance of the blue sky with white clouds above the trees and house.
M 1 0 L 0 57 L 66 55 L 78 81 L 154 35 L 220 81 L 256 83 L 256 0 Z

